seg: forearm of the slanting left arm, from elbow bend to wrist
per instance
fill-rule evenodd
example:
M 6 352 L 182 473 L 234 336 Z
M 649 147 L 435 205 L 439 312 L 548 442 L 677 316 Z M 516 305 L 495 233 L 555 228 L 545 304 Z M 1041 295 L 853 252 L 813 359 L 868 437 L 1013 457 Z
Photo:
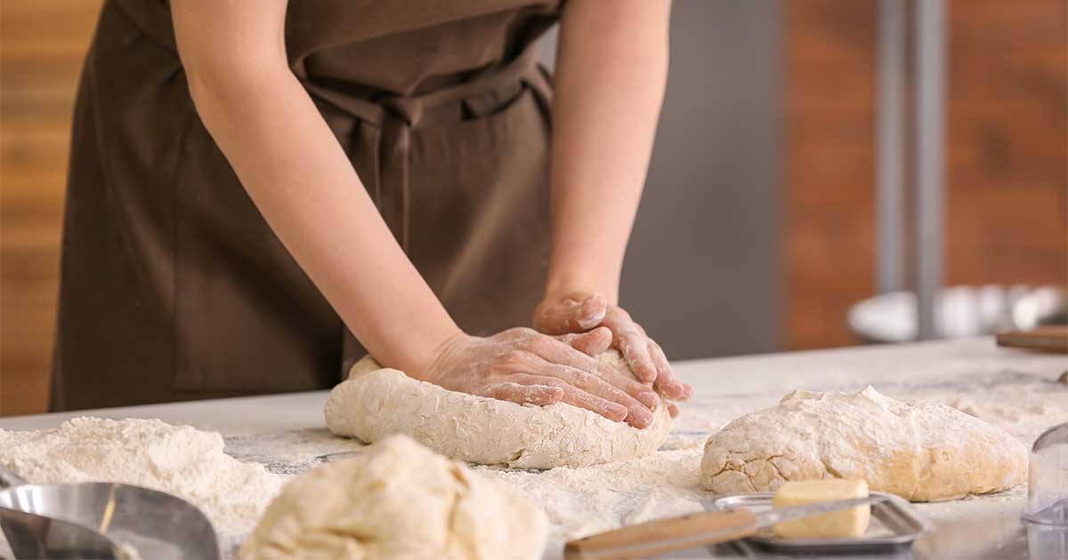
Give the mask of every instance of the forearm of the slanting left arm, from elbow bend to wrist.
M 190 75 L 198 112 L 271 229 L 376 358 L 425 365 L 459 331 L 297 79 L 285 67 L 209 78 Z

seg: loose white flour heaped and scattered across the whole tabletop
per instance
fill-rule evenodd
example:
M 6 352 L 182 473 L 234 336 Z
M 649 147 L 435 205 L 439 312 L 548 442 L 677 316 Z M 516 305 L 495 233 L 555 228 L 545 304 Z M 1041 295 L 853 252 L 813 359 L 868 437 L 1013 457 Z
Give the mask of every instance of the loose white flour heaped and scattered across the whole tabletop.
M 1028 447 L 1042 430 L 1068 418 L 1068 386 L 1026 375 L 998 373 L 932 385 L 888 382 L 879 387 L 888 396 L 900 400 L 948 404 L 1006 430 Z M 712 497 L 700 482 L 701 448 L 705 439 L 733 419 L 771 405 L 781 396 L 782 389 L 776 387 L 738 395 L 698 393 L 694 402 L 681 406 L 682 413 L 661 450 L 639 459 L 544 471 L 474 469 L 512 484 L 545 509 L 552 531 L 550 556 L 553 556 L 553 546 L 559 555 L 559 546 L 564 540 L 624 524 L 698 511 L 701 500 Z M 89 435 L 94 432 L 104 436 Z M 190 448 L 194 450 L 189 451 Z M 242 461 L 264 463 L 274 473 L 289 475 L 358 454 L 364 446 L 316 429 L 299 433 L 233 435 L 227 439 L 227 449 Z M 90 457 L 75 457 L 81 453 L 90 453 Z M 198 459 L 169 460 L 172 454 L 191 454 Z M 16 457 L 20 458 L 18 464 Z M 155 465 L 156 461 L 151 458 L 161 458 L 159 463 L 164 466 Z M 218 434 L 155 420 L 80 418 L 59 430 L 0 430 L 0 464 L 22 470 L 23 476 L 33 481 L 120 480 L 174 492 L 202 507 L 220 532 L 231 531 L 231 542 L 242 539 L 251 530 L 287 478 L 223 454 Z M 233 482 L 242 477 L 248 482 Z M 183 478 L 187 480 L 180 480 Z M 1015 517 L 1025 499 L 1026 486 L 1021 484 L 998 494 L 914 503 L 913 507 L 940 527 L 957 523 L 967 526 L 968 519 L 980 515 Z M 974 528 L 962 530 L 975 534 Z M 223 554 L 227 555 L 225 546 Z

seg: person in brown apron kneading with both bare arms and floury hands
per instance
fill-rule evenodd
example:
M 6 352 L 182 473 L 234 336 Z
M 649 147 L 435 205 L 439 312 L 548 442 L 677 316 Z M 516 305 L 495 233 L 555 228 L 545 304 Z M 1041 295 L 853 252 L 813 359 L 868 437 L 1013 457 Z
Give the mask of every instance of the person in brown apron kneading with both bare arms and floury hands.
M 328 388 L 370 352 L 638 428 L 674 412 L 657 391 L 692 389 L 617 304 L 668 19 L 649 0 L 106 2 L 52 409 Z M 557 20 L 553 85 L 536 52 Z M 637 381 L 592 357 L 608 347 Z

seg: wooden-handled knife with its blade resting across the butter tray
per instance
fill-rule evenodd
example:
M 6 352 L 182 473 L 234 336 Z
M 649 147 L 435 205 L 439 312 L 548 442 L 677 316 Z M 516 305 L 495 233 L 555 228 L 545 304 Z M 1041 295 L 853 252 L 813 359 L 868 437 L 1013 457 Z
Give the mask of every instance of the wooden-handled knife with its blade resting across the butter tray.
M 567 559 L 634 558 L 653 556 L 695 546 L 725 543 L 756 534 L 757 530 L 780 522 L 811 515 L 869 506 L 886 496 L 823 501 L 792 508 L 754 513 L 747 509 L 692 513 L 681 517 L 656 519 L 571 541 L 564 547 Z

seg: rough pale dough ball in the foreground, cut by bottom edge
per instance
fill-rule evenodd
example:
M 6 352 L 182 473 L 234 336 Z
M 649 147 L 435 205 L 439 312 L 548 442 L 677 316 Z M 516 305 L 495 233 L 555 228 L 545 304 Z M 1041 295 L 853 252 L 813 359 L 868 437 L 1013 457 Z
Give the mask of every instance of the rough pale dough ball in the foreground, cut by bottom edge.
M 238 559 L 535 559 L 547 533 L 506 484 L 394 435 L 293 479 Z

